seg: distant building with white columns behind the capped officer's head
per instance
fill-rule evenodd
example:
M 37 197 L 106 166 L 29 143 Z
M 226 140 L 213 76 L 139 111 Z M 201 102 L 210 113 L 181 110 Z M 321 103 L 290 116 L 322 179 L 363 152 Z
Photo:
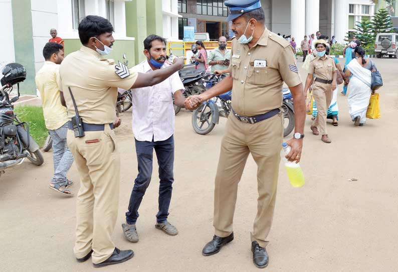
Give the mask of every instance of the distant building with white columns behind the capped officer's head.
M 211 39 L 230 35 L 230 26 L 225 22 L 228 9 L 224 2 L 225 0 L 178 0 L 178 5 L 181 6 L 178 13 L 182 16 L 178 19 L 179 38 L 182 39 L 183 26 L 193 26 L 195 32 L 209 32 Z M 315 34 L 319 30 L 330 38 L 334 35 L 337 41 L 343 41 L 348 31 L 350 2 L 356 4 L 362 1 L 261 0 L 261 5 L 265 12 L 266 26 L 275 33 L 291 35 L 301 41 L 305 34 Z M 365 2 L 370 5 L 369 1 Z

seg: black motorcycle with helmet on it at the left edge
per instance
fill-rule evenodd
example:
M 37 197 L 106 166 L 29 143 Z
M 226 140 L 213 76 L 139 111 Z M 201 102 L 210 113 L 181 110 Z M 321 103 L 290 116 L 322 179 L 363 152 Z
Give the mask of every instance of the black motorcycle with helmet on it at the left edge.
M 3 69 L 3 75 L 0 88 L 0 175 L 5 169 L 22 164 L 26 158 L 37 166 L 44 163 L 39 145 L 29 133 L 29 124 L 21 121 L 14 112 L 13 103 L 20 98 L 19 83 L 25 80 L 26 70 L 21 64 L 10 63 Z M 18 84 L 18 95 L 10 99 L 15 84 Z

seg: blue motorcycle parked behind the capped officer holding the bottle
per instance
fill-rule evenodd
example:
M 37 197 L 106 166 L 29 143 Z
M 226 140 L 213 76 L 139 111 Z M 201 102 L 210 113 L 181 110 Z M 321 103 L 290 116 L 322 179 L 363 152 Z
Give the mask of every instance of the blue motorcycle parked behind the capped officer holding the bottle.
M 221 81 L 225 76 L 210 75 L 207 89 Z M 220 116 L 227 117 L 232 111 L 232 91 L 228 91 L 209 99 L 192 112 L 192 127 L 196 133 L 206 135 L 219 123 Z M 293 96 L 288 88 L 283 89 L 282 110 L 284 116 L 283 136 L 286 137 L 294 129 Z

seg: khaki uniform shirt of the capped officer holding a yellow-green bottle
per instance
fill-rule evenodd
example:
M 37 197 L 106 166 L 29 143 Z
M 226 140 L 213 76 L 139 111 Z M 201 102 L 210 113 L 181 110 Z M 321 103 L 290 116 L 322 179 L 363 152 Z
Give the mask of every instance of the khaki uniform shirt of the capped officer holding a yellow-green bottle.
M 254 116 L 282 106 L 283 81 L 301 83 L 293 48 L 268 29 L 255 46 L 232 40 L 232 107 L 240 115 Z

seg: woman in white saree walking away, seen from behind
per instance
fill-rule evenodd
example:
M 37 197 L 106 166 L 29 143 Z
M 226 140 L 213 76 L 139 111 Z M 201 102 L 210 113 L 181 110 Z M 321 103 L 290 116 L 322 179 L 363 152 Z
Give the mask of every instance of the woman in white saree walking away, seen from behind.
M 372 76 L 375 71 L 372 62 L 365 58 L 363 47 L 355 48 L 356 59 L 350 61 L 345 70 L 346 84 L 349 83 L 348 110 L 355 125 L 363 125 L 366 122 L 366 110 L 369 105 Z M 372 70 L 373 68 L 373 70 Z M 350 75 L 352 77 L 350 78 Z

